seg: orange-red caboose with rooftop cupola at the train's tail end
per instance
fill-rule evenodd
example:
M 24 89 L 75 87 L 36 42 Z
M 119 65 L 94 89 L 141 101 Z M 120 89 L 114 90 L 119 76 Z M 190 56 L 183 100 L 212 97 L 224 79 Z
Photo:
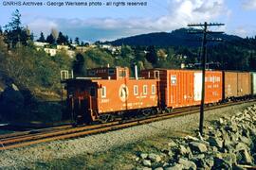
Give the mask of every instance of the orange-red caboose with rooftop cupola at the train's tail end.
M 101 67 L 87 70 L 86 77 L 64 81 L 67 109 L 75 123 L 110 121 L 123 113 L 156 111 L 157 78 L 130 77 L 128 68 Z

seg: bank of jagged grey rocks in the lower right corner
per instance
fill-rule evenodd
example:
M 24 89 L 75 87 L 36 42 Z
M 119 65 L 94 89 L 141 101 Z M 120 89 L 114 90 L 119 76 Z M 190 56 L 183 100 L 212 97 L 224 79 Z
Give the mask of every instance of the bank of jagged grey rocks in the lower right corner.
M 139 167 L 157 169 L 255 168 L 256 105 L 224 116 L 205 127 L 201 137 L 170 140 L 159 153 L 137 155 Z M 148 168 L 147 168 L 148 167 Z

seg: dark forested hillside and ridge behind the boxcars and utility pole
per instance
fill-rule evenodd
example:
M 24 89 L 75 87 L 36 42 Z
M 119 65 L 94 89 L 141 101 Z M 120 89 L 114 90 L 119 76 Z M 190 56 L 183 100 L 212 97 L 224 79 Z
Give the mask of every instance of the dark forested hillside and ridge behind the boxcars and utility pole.
M 187 59 L 184 61 L 189 64 L 200 61 L 201 51 L 202 38 L 199 35 L 189 33 L 192 31 L 194 29 L 180 28 L 171 33 L 158 32 L 143 34 L 104 43 L 144 47 L 155 46 L 155 48 L 164 49 L 165 51 L 172 48 L 174 49 L 175 55 L 186 56 Z M 209 40 L 207 59 L 209 63 L 213 63 L 213 68 L 255 71 L 256 36 L 254 38 L 243 39 L 234 35 L 213 34 L 208 36 L 207 39 Z M 222 42 L 212 42 L 211 40 L 222 40 Z M 172 65 L 172 63 L 168 65 Z M 163 66 L 165 67 L 167 65 L 164 64 Z

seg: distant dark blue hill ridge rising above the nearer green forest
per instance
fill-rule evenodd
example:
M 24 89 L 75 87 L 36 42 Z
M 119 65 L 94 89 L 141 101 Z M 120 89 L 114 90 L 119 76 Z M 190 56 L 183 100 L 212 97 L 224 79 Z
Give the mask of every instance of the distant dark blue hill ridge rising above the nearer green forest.
M 142 45 L 142 46 L 149 46 L 149 45 L 155 45 L 155 46 L 188 46 L 188 47 L 197 47 L 201 45 L 201 42 L 198 41 L 201 39 L 200 35 L 195 34 L 189 34 L 188 31 L 195 29 L 187 29 L 187 28 L 180 28 L 176 29 L 170 33 L 168 32 L 155 32 L 155 33 L 149 33 L 149 34 L 141 34 L 137 36 L 127 37 L 118 39 L 113 42 L 104 42 L 104 43 L 110 43 L 112 45 Z M 210 35 L 210 39 L 212 38 L 220 38 L 225 41 L 233 42 L 233 41 L 242 41 L 243 38 L 234 36 L 234 35 L 228 35 L 228 34 L 216 34 L 216 35 Z M 216 42 L 210 42 L 210 44 L 213 44 Z

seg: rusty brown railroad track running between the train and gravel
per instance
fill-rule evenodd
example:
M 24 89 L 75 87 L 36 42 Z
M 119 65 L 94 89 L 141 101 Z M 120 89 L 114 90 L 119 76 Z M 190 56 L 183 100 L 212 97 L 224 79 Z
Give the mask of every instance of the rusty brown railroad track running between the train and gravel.
M 247 102 L 254 102 L 255 100 L 249 100 Z M 206 107 L 205 110 L 216 110 L 220 108 L 240 105 L 245 101 L 226 103 L 222 105 L 216 105 Z M 106 132 L 114 129 L 133 127 L 137 125 L 152 123 L 164 119 L 169 119 L 177 116 L 184 116 L 188 114 L 198 113 L 198 107 L 184 108 L 174 110 L 171 113 L 155 114 L 146 118 L 137 118 L 129 121 L 115 121 L 100 125 L 91 125 L 84 127 L 72 127 L 72 126 L 61 126 L 61 127 L 50 127 L 44 130 L 32 130 L 26 132 L 19 132 L 15 134 L 0 135 L 0 150 L 6 150 L 11 148 L 23 147 L 31 144 L 41 144 L 56 140 L 64 140 L 71 138 L 78 138 L 85 135 L 91 135 L 101 132 Z

